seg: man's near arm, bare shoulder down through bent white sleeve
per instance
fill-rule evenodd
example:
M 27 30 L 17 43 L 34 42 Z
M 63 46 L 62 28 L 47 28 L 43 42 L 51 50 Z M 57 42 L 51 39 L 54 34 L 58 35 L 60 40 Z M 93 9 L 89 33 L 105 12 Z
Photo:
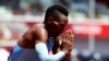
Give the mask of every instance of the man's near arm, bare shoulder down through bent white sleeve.
M 35 26 L 35 28 L 33 29 L 33 33 L 37 37 L 35 49 L 39 53 L 39 57 L 43 61 L 59 61 L 61 58 L 65 56 L 64 51 L 60 51 L 56 54 L 48 54 L 48 49 L 45 44 L 47 41 L 48 35 L 45 28 Z

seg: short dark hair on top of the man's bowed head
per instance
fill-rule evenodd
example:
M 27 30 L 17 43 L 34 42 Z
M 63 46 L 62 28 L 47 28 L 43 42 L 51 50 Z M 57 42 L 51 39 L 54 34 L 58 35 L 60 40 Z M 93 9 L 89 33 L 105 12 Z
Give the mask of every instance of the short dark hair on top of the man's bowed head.
M 60 4 L 55 4 L 47 9 L 44 23 L 47 22 L 47 19 L 49 16 L 55 17 L 58 13 L 62 13 L 65 16 L 69 15 L 69 11 L 65 7 L 60 5 Z

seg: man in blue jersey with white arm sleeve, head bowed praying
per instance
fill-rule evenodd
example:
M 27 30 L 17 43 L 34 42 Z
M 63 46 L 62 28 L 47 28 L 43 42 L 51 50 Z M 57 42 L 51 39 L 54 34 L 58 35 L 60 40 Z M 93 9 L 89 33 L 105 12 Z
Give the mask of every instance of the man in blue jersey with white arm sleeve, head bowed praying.
M 9 61 L 60 61 L 71 50 L 72 45 L 66 41 L 71 37 L 66 36 L 62 49 L 56 54 L 49 54 L 53 47 L 53 39 L 68 24 L 68 10 L 61 5 L 48 8 L 44 23 L 44 27 L 36 24 L 19 39 Z

